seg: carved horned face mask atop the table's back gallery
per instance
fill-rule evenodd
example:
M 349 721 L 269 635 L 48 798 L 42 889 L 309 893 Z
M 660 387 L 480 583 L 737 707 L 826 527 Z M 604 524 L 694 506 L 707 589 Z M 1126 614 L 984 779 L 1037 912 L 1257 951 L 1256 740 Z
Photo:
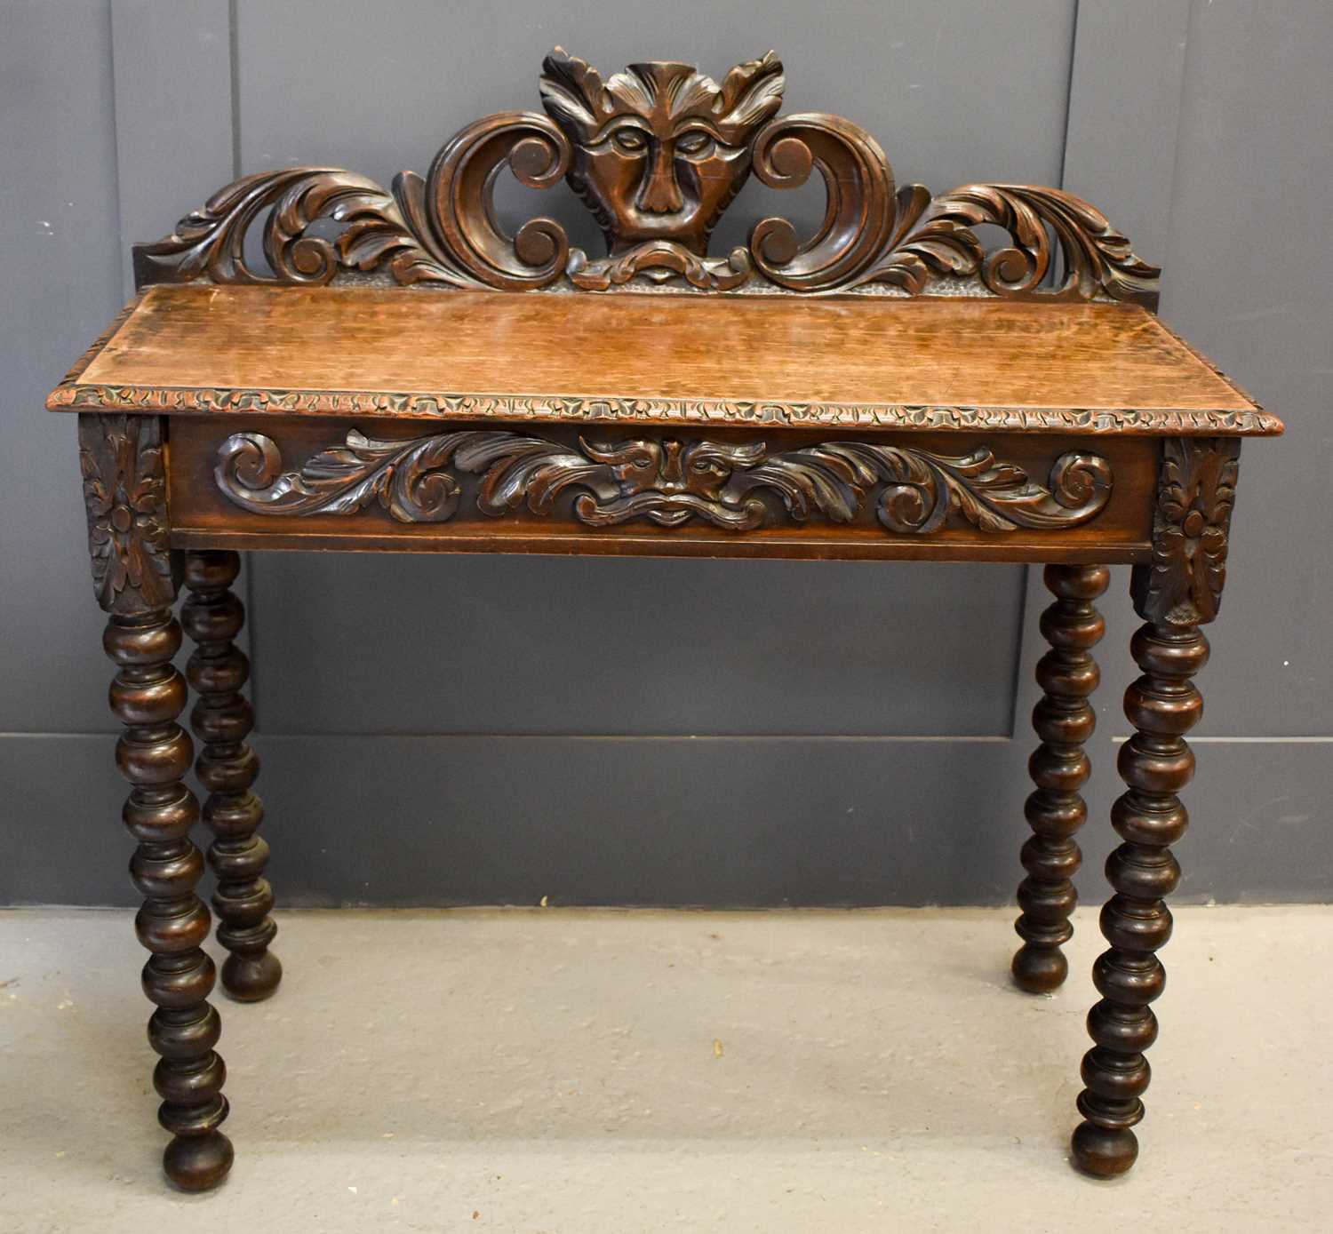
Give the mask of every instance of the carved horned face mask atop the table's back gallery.
M 704 256 L 717 216 L 749 175 L 750 139 L 781 105 L 773 52 L 736 65 L 721 85 L 660 60 L 603 84 L 560 48 L 543 69 L 543 105 L 573 145 L 569 184 L 611 253 L 665 240 Z

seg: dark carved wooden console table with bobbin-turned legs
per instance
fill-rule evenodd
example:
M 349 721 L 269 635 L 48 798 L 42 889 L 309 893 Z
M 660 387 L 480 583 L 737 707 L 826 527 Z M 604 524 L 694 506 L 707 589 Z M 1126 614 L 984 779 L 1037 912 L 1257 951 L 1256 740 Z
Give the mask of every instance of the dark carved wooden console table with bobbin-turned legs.
M 1088 1173 L 1128 1170 L 1200 626 L 1217 616 L 1240 440 L 1280 421 L 1156 318 L 1158 271 L 1090 205 L 1013 184 L 896 191 L 854 124 L 777 116 L 773 53 L 717 84 L 660 61 L 604 81 L 556 49 L 540 88 L 545 115 L 480 120 L 389 192 L 325 168 L 221 189 L 135 248 L 139 296 L 51 394 L 79 413 L 117 665 L 168 1177 L 201 1190 L 232 1165 L 200 816 L 224 987 L 267 998 L 281 975 L 233 642 L 237 553 L 259 549 L 1042 562 L 1054 602 L 1013 962 L 1030 991 L 1066 973 L 1094 601 L 1106 565 L 1133 564 L 1142 676 L 1073 1137 Z M 551 219 L 508 235 L 492 203 L 504 168 L 568 181 L 607 253 L 571 248 Z M 764 219 L 712 256 L 752 172 L 774 189 L 817 172 L 824 220 L 802 239 Z M 988 252 L 981 224 L 1009 247 Z M 187 678 L 201 810 L 184 784 Z

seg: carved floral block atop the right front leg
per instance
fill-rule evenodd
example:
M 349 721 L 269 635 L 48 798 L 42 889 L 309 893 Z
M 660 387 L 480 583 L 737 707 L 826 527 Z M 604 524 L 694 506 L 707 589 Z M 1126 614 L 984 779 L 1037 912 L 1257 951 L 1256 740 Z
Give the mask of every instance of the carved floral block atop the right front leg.
M 1226 581 L 1226 540 L 1241 444 L 1228 437 L 1168 437 L 1153 516 L 1153 558 L 1134 568 L 1134 608 L 1148 621 L 1213 621 Z

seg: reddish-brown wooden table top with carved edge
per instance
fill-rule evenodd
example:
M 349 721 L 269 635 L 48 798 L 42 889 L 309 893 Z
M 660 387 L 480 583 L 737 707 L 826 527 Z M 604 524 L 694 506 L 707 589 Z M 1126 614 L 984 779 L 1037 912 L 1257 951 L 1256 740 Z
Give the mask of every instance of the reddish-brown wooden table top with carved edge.
M 48 400 L 163 413 L 1274 434 L 1140 307 L 149 288 Z

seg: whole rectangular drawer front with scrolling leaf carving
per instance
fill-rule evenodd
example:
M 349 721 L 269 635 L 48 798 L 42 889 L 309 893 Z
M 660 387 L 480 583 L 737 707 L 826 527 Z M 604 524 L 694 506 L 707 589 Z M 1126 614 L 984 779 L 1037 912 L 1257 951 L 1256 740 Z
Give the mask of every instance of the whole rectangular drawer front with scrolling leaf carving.
M 1150 437 L 175 417 L 199 548 L 1141 561 Z

